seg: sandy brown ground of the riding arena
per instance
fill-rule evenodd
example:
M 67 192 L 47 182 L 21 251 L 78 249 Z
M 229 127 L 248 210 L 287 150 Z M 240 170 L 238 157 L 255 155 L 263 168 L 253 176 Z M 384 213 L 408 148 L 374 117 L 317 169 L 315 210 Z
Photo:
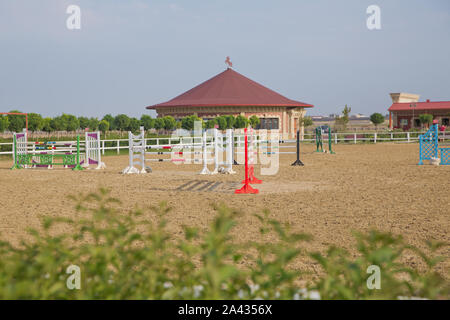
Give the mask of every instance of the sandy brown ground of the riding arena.
M 302 147 L 304 167 L 291 167 L 295 155 L 283 155 L 273 176 L 256 176 L 264 183 L 258 195 L 235 195 L 244 177 L 198 175 L 201 165 L 152 163 L 153 173 L 122 175 L 127 156 L 104 157 L 106 170 L 72 172 L 67 169 L 9 170 L 12 160 L 0 161 L 0 232 L 17 241 L 40 217 L 73 214 L 68 195 L 108 187 L 125 208 L 148 208 L 166 200 L 173 211 L 169 228 L 180 234 L 182 225 L 207 226 L 214 216 L 212 203 L 241 209 L 235 235 L 248 240 L 257 235 L 253 217 L 269 209 L 296 231 L 310 233 L 312 250 L 329 244 L 350 246 L 352 231 L 375 228 L 403 235 L 424 247 L 423 240 L 450 242 L 450 166 L 417 166 L 417 144 L 337 145 L 336 154 L 317 154 Z M 151 213 L 149 213 L 151 214 Z M 446 252 L 449 256 L 449 252 Z M 419 263 L 411 260 L 411 264 Z M 317 266 L 299 262 L 299 267 Z M 439 271 L 448 276 L 447 262 Z

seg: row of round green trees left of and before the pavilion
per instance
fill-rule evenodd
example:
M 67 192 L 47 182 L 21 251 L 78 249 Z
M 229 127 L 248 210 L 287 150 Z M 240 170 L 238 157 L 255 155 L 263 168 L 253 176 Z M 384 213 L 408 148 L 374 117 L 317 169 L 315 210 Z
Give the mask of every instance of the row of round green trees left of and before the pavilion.
M 11 113 L 20 113 L 20 111 L 12 110 Z M 172 116 L 161 118 L 152 118 L 149 115 L 142 115 L 140 119 L 129 117 L 125 114 L 112 116 L 105 115 L 102 119 L 95 117 L 77 117 L 71 114 L 63 113 L 57 117 L 43 117 L 38 113 L 28 113 L 28 130 L 32 132 L 44 131 L 77 131 L 89 128 L 91 131 L 133 131 L 139 130 L 143 126 L 145 130 L 174 130 L 178 128 L 193 130 L 195 121 L 201 121 L 202 127 L 205 129 L 218 128 L 220 130 L 232 128 L 245 128 L 248 125 L 256 128 L 260 120 L 256 116 L 246 118 L 244 116 L 223 115 L 213 119 L 203 120 L 195 115 L 186 116 L 176 120 Z M 0 115 L 0 132 L 22 131 L 26 126 L 24 115 Z

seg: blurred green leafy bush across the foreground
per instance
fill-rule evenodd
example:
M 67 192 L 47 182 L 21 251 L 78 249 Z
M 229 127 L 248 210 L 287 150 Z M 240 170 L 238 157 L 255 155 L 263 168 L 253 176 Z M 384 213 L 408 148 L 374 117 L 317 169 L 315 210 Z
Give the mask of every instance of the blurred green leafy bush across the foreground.
M 302 248 L 309 235 L 290 232 L 267 212 L 256 216 L 259 240 L 237 243 L 230 231 L 239 213 L 223 205 L 215 208 L 207 230 L 185 226 L 183 237 L 173 237 L 166 229 L 165 203 L 152 208 L 149 221 L 140 210 L 118 210 L 118 200 L 106 190 L 74 200 L 73 219 L 46 218 L 42 232 L 30 231 L 32 241 L 17 247 L 0 243 L 1 299 L 448 297 L 448 283 L 433 271 L 441 259 L 389 234 L 358 234 L 356 258 L 336 247 L 322 255 Z M 429 246 L 434 255 L 442 244 Z M 405 251 L 418 254 L 427 269 L 402 264 Z M 324 271 L 307 288 L 298 287 L 302 272 L 291 267 L 300 256 L 312 257 Z M 66 286 L 70 265 L 81 269 L 79 290 Z M 367 288 L 370 265 L 381 268 L 379 290 Z

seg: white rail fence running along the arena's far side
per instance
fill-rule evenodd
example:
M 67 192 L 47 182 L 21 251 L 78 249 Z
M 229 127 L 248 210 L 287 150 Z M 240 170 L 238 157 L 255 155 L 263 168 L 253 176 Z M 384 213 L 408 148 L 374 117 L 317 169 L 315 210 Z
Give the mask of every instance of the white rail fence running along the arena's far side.
M 332 133 L 332 141 L 335 144 L 339 143 L 351 143 L 357 144 L 358 142 L 365 143 L 378 143 L 378 142 L 418 142 L 419 135 L 425 132 L 388 132 L 388 133 L 362 133 L 362 132 L 349 132 L 349 133 Z M 324 139 L 328 139 L 328 135 L 322 136 Z M 177 141 L 180 138 L 146 138 L 147 145 L 162 145 L 161 141 L 167 141 L 164 145 L 170 145 L 173 141 Z M 181 139 L 189 139 L 189 137 L 181 137 Z M 450 133 L 442 132 L 439 134 L 439 140 L 445 141 L 450 140 Z M 294 140 L 283 140 L 286 142 L 291 142 Z M 303 135 L 302 141 L 304 142 L 314 142 L 315 136 L 312 133 L 305 133 Z M 68 142 L 68 141 L 66 141 Z M 116 150 L 117 154 L 120 154 L 121 149 L 128 149 L 128 139 L 105 139 L 100 140 L 102 154 L 105 154 L 106 150 Z M 12 154 L 12 142 L 2 142 L 0 143 L 0 155 Z M 8 147 L 3 147 L 8 146 Z M 8 149 L 7 151 L 1 151 L 3 149 Z

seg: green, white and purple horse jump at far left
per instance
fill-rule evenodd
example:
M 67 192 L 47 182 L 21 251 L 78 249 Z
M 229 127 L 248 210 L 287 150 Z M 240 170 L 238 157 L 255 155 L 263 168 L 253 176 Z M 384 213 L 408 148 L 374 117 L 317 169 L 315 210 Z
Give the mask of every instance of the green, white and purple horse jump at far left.
M 25 130 L 21 133 L 14 133 L 14 164 L 11 169 L 39 167 L 53 169 L 53 166 L 61 165 L 64 168 L 82 170 L 83 168 L 88 168 L 91 164 L 96 164 L 96 169 L 105 168 L 105 164 L 101 161 L 100 133 L 86 132 L 85 138 L 85 153 L 82 154 L 79 135 L 76 141 L 70 142 L 29 142 Z

